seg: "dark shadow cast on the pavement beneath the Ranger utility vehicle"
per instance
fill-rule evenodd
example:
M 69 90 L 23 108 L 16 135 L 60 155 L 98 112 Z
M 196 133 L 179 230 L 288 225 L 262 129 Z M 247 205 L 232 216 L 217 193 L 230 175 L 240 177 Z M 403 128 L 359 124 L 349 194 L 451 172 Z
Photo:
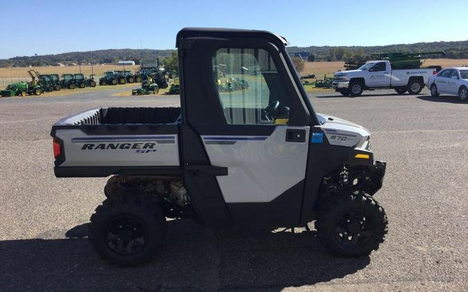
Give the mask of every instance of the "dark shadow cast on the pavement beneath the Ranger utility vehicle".
M 216 291 L 302 286 L 345 277 L 369 257 L 331 255 L 314 232 L 218 230 L 168 221 L 166 246 L 144 266 L 119 268 L 101 260 L 87 224 L 68 239 L 0 241 L 2 291 Z

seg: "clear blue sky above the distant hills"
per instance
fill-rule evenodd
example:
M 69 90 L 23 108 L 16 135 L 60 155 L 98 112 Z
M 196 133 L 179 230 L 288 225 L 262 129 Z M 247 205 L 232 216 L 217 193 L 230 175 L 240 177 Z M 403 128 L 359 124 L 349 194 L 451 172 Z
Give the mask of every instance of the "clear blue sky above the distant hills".
M 0 0 L 0 59 L 107 48 L 175 48 L 184 27 L 270 30 L 290 46 L 468 39 L 468 0 Z

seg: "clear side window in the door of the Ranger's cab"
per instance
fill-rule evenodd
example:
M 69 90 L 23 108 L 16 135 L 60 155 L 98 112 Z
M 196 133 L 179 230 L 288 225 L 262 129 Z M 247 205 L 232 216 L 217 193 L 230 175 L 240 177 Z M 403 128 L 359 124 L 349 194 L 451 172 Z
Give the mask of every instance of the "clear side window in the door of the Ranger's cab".
M 212 59 L 213 80 L 232 125 L 284 124 L 290 99 L 270 54 L 259 48 L 220 48 Z

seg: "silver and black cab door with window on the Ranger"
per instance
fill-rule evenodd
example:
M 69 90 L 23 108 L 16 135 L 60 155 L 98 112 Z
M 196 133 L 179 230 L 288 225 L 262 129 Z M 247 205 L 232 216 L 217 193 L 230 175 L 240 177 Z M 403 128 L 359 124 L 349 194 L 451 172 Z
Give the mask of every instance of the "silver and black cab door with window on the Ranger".
M 287 56 L 268 39 L 242 37 L 198 38 L 187 55 L 196 51 L 200 83 L 187 74 L 184 82 L 200 91 L 185 94 L 187 124 L 209 163 L 227 169 L 216 182 L 229 216 L 236 225 L 295 226 L 311 120 Z M 195 65 L 185 62 L 186 72 Z

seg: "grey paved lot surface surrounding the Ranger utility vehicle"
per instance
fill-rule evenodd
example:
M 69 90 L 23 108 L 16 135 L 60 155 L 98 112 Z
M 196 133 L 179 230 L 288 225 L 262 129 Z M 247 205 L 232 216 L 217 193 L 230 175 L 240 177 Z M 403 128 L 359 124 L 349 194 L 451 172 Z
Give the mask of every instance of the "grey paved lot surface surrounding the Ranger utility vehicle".
M 92 107 L 173 105 L 178 98 L 111 93 L 0 100 L 0 291 L 468 289 L 468 104 L 381 95 L 390 91 L 311 97 L 317 111 L 370 129 L 376 157 L 388 161 L 376 199 L 390 230 L 370 257 L 331 255 L 301 228 L 212 231 L 179 220 L 168 222 L 154 262 L 117 268 L 86 238 L 105 179 L 55 179 L 51 125 Z

